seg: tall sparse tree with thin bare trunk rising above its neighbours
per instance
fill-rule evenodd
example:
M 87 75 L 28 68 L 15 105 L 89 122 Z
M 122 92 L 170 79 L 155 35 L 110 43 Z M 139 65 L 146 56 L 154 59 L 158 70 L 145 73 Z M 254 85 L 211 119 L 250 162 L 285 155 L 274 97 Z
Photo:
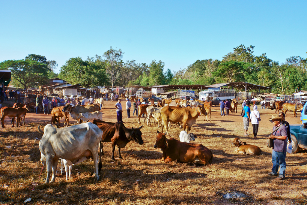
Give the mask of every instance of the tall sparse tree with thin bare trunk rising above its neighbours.
M 119 78 L 119 71 L 122 68 L 122 56 L 124 54 L 122 52 L 122 49 L 116 49 L 117 48 L 113 49 L 112 47 L 110 47 L 110 49 L 103 54 L 103 57 L 106 58 L 108 63 L 106 70 L 109 74 L 112 89 L 114 86 L 114 82 L 117 80 L 117 78 Z

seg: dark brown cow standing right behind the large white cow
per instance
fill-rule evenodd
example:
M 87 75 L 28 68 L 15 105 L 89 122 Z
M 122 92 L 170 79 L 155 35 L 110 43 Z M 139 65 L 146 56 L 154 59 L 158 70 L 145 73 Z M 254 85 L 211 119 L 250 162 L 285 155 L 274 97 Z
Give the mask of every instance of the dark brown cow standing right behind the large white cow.
M 111 159 L 115 161 L 114 159 L 114 151 L 115 151 L 115 145 L 118 147 L 118 156 L 120 159 L 122 159 L 122 156 L 120 154 L 120 148 L 124 147 L 130 147 L 130 145 L 133 142 L 137 142 L 139 145 L 144 144 L 142 140 L 142 132 L 140 129 L 143 127 L 143 125 L 139 128 L 131 128 L 128 129 L 125 127 L 125 125 L 121 122 L 113 123 L 113 122 L 104 122 L 102 120 L 97 119 L 91 119 L 87 122 L 91 122 L 95 125 L 97 125 L 102 131 L 102 142 L 112 142 L 112 155 Z M 101 153 L 103 153 L 103 144 L 101 145 Z

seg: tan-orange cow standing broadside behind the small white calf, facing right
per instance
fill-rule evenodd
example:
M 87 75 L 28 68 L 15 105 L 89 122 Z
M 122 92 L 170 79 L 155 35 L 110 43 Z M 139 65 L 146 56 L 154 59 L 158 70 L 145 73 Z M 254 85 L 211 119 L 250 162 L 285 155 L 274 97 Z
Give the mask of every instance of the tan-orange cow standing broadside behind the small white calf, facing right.
M 165 126 L 166 133 L 169 135 L 167 128 L 168 122 L 182 122 L 183 130 L 185 130 L 187 121 L 191 120 L 192 118 L 197 119 L 197 117 L 200 116 L 201 113 L 203 113 L 205 116 L 207 115 L 204 106 L 201 105 L 199 105 L 195 109 L 192 109 L 191 107 L 177 108 L 175 106 L 167 105 L 161 109 L 161 116 L 163 119 L 163 123 L 161 125 L 161 132 L 163 132 L 163 128 Z

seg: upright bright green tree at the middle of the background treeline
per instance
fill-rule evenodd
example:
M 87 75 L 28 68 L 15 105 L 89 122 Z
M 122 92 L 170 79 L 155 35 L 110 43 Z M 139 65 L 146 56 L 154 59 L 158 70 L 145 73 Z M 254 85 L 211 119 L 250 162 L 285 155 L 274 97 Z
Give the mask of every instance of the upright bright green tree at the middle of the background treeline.
M 161 85 L 163 82 L 164 62 L 153 60 L 149 64 L 149 84 Z

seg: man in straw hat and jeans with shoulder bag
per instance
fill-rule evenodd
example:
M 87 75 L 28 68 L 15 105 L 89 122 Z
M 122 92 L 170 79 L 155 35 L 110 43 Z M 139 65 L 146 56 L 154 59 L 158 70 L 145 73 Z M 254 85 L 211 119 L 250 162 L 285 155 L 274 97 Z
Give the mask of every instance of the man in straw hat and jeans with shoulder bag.
M 272 171 L 269 176 L 277 176 L 278 167 L 280 166 L 279 175 L 277 180 L 285 179 L 286 172 L 286 153 L 287 153 L 287 128 L 282 124 L 283 118 L 278 114 L 272 115 L 269 119 L 273 124 L 273 133 L 269 136 L 273 139 L 273 151 L 272 151 Z

